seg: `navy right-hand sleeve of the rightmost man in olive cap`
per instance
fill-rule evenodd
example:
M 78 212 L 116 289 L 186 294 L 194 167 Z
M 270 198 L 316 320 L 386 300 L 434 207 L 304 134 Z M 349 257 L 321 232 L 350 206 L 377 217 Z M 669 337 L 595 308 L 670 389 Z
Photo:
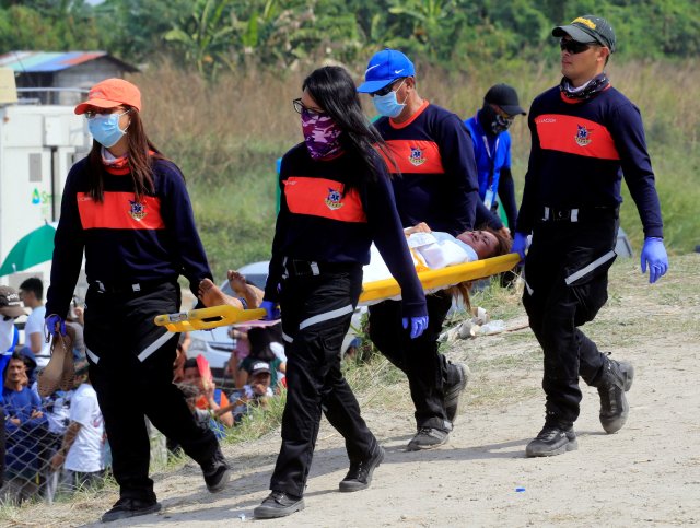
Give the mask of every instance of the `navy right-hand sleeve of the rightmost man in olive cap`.
M 661 203 L 654 183 L 652 162 L 646 151 L 642 116 L 631 103 L 617 108 L 610 122 L 612 139 L 620 153 L 622 174 L 637 204 L 644 236 L 664 236 Z

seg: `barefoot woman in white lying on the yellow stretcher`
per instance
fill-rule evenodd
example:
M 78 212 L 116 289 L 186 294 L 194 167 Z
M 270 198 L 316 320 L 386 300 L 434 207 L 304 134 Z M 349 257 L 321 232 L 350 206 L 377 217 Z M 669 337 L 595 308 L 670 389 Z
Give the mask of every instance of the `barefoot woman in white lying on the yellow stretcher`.
M 431 231 L 424 222 L 404 231 L 419 272 L 498 257 L 511 250 L 511 239 L 490 227 L 465 231 L 456 237 L 444 232 Z M 392 277 L 374 244 L 370 249 L 370 263 L 363 268 L 363 272 L 362 282 L 364 283 Z M 229 270 L 229 284 L 237 297 L 226 295 L 213 282 L 205 279 L 199 286 L 199 298 L 207 307 L 230 304 L 236 308 L 256 308 L 260 305 L 262 291 L 247 284 L 241 273 Z M 468 300 L 468 283 L 457 284 L 454 288 L 457 289 L 454 293 L 462 294 L 465 301 Z

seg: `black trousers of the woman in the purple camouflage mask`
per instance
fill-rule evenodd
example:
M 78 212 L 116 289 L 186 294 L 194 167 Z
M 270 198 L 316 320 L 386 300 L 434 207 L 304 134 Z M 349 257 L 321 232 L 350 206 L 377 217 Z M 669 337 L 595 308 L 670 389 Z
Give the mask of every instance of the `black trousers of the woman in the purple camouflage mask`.
M 376 439 L 340 371 L 340 349 L 362 288 L 362 268 L 290 277 L 280 298 L 287 354 L 282 446 L 270 490 L 302 496 L 320 413 L 346 439 L 350 460 L 370 455 Z

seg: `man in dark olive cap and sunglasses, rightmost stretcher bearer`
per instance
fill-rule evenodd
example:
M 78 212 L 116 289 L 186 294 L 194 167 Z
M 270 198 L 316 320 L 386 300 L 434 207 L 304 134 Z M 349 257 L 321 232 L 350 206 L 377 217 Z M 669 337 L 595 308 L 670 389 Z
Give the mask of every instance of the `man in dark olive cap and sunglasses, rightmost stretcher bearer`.
M 545 352 L 545 426 L 527 445 L 529 457 L 576 449 L 579 376 L 597 387 L 607 433 L 629 414 L 632 365 L 610 360 L 579 329 L 607 301 L 622 176 L 644 227 L 642 272 L 649 267 L 653 283 L 668 269 L 640 112 L 604 71 L 615 32 L 605 19 L 585 15 L 552 35 L 560 38 L 563 79 L 529 110 L 532 152 L 513 245 L 525 259 L 523 304 Z

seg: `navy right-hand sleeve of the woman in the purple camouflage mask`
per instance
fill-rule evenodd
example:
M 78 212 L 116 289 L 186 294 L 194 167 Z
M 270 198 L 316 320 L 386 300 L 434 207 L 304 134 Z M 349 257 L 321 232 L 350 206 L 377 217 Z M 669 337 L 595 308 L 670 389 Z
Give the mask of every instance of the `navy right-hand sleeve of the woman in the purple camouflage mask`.
M 389 177 L 383 168 L 376 183 L 366 188 L 366 215 L 372 238 L 396 282 L 401 286 L 405 317 L 428 315 L 423 288 L 416 274 L 406 235 L 396 210 Z

